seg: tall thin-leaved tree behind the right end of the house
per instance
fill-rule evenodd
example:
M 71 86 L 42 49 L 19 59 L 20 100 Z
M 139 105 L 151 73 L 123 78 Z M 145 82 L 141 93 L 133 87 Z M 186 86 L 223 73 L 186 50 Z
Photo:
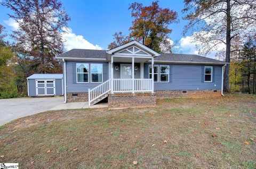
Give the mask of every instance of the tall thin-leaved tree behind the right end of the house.
M 226 47 L 226 62 L 236 50 L 231 44 L 236 36 L 255 30 L 256 1 L 254 0 L 185 0 L 184 19 L 189 23 L 184 29 L 198 31 L 194 33 L 195 41 L 202 43 L 201 53 L 217 49 L 220 44 Z M 225 68 L 224 90 L 229 90 L 229 64 Z

